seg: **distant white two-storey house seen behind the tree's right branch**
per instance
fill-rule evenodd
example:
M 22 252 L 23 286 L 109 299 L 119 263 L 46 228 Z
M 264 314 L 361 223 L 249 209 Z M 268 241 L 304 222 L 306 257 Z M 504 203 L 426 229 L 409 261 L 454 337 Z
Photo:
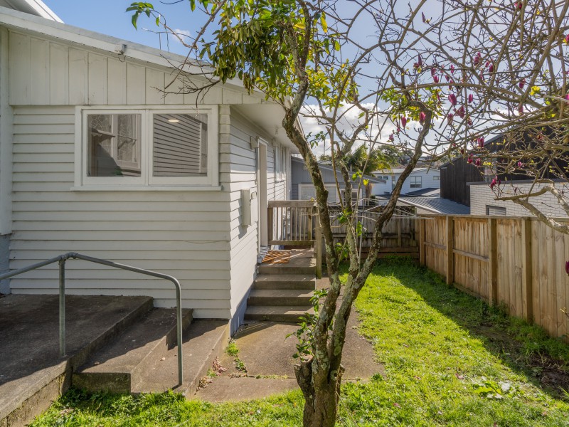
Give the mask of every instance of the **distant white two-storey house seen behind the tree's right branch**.
M 385 184 L 376 184 L 373 186 L 373 194 L 376 196 L 385 196 L 391 194 L 395 182 L 403 173 L 405 167 L 394 167 L 390 170 L 377 171 L 373 174 L 385 180 Z M 412 191 L 425 190 L 425 189 L 439 189 L 440 188 L 440 172 L 439 169 L 433 167 L 416 167 L 413 172 L 405 179 L 401 194 L 408 194 Z

